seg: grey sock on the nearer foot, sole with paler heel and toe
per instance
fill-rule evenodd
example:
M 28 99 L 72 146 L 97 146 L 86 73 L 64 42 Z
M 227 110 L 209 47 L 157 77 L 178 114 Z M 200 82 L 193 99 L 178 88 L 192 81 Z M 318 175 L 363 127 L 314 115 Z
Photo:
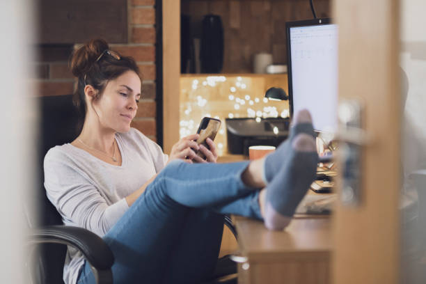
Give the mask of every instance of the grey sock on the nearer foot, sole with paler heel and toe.
M 312 136 L 296 135 L 289 148 L 281 158 L 280 171 L 266 187 L 264 219 L 271 230 L 287 226 L 317 171 L 318 155 Z

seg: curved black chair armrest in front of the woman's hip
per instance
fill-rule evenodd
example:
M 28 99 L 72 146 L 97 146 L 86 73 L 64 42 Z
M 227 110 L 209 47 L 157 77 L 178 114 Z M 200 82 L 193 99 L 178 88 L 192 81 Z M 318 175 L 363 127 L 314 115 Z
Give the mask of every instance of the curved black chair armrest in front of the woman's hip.
M 97 270 L 109 270 L 114 256 L 104 240 L 89 230 L 71 226 L 44 226 L 32 228 L 29 244 L 58 243 L 77 248 Z

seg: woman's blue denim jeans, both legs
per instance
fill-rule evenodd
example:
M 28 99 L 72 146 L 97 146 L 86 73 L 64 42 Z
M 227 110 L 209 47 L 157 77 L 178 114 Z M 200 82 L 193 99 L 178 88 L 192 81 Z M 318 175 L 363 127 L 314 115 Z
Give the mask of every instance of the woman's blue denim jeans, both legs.
M 246 187 L 247 161 L 173 161 L 103 239 L 113 252 L 113 283 L 199 283 L 219 255 L 223 214 L 262 219 L 258 189 Z M 88 262 L 78 283 L 95 283 Z

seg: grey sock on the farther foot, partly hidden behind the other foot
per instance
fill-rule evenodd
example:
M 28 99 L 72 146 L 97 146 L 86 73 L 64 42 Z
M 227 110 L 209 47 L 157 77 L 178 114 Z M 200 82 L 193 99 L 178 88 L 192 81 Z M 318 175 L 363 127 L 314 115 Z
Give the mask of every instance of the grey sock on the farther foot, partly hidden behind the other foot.
M 285 157 L 287 153 L 290 153 L 291 143 L 294 141 L 294 137 L 301 133 L 315 137 L 312 120 L 308 111 L 302 110 L 296 113 L 294 115 L 293 123 L 294 125 L 290 128 L 290 134 L 287 140 L 281 143 L 275 152 L 267 155 L 265 159 L 265 164 L 263 166 L 263 181 L 265 184 L 271 182 L 271 180 L 274 178 L 274 175 L 276 175 L 276 173 L 281 170 L 283 157 Z

